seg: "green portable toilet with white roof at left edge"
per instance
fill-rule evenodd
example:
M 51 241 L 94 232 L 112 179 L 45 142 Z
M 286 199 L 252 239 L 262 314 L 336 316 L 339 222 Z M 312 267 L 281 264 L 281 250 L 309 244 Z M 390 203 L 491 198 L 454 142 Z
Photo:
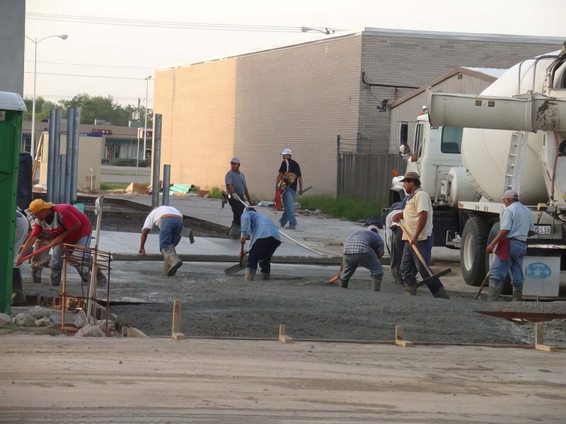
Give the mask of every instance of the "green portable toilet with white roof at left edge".
M 10 313 L 12 300 L 16 192 L 25 110 L 20 95 L 0 91 L 0 312 L 4 314 Z

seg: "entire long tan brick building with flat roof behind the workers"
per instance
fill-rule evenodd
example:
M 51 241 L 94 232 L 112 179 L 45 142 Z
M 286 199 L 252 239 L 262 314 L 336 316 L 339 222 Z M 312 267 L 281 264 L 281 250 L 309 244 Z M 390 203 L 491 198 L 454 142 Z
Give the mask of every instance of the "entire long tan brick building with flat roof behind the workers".
M 162 69 L 154 86 L 161 162 L 171 164 L 172 182 L 214 187 L 238 156 L 250 193 L 270 199 L 289 147 L 312 192 L 335 194 L 338 135 L 342 151 L 391 152 L 395 100 L 452 69 L 509 68 L 561 43 L 366 28 Z

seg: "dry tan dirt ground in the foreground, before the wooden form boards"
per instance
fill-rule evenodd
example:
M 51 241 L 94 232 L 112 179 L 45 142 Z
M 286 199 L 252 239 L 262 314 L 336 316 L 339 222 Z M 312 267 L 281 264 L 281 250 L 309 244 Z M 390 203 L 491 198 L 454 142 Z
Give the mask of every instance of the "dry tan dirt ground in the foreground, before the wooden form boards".
M 566 353 L 3 336 L 2 423 L 563 423 Z

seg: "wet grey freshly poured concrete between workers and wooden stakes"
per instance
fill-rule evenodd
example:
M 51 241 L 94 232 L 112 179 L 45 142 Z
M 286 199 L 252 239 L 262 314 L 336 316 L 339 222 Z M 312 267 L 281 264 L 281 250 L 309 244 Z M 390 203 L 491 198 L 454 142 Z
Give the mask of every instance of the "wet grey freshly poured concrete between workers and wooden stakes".
M 229 264 L 185 264 L 176 276 L 160 275 L 159 262 L 115 262 L 111 299 L 147 302 L 111 311 L 150 335 L 171 334 L 172 303 L 183 302 L 182 331 L 191 336 L 276 337 L 279 324 L 297 338 L 393 340 L 401 325 L 412 341 L 533 343 L 533 324 L 516 324 L 477 311 L 565 312 L 565 302 L 485 302 L 447 285 L 451 300 L 416 297 L 393 283 L 386 267 L 382 291 L 370 290 L 369 273 L 357 271 L 350 288 L 328 284 L 331 266 L 275 264 L 270 281 L 224 275 Z M 456 279 L 456 278 L 455 278 Z M 475 290 L 474 290 L 475 291 Z M 566 321 L 545 324 L 545 339 L 566 345 Z

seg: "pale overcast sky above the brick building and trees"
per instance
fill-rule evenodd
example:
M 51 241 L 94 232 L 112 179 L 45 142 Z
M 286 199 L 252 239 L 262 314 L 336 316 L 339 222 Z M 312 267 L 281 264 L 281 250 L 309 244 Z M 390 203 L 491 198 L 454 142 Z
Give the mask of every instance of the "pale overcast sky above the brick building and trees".
M 53 37 L 37 45 L 37 95 L 56 101 L 86 92 L 112 95 L 127 105 L 137 104 L 138 98 L 145 101 L 144 78 L 156 69 L 325 37 L 315 31 L 301 33 L 301 26 L 566 40 L 565 16 L 566 0 L 26 0 L 25 35 L 37 39 L 69 35 L 67 40 Z M 150 20 L 161 21 L 159 27 L 185 28 L 139 26 Z M 194 24 L 214 25 L 201 30 L 193 29 Z M 254 31 L 241 26 L 226 30 L 223 25 L 263 25 L 272 31 L 258 31 L 255 26 Z M 33 42 L 29 40 L 25 71 L 24 95 L 31 97 Z M 148 98 L 151 107 L 151 83 Z

